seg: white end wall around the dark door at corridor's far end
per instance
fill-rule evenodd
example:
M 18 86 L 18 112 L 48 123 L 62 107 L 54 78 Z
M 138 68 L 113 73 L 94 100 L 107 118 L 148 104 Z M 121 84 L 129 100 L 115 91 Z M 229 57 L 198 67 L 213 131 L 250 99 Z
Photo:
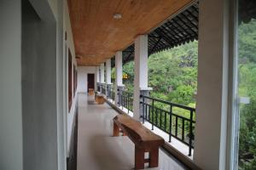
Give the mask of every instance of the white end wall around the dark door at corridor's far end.
M 79 66 L 78 71 L 78 92 L 87 93 L 87 74 L 95 74 L 96 89 L 96 66 Z

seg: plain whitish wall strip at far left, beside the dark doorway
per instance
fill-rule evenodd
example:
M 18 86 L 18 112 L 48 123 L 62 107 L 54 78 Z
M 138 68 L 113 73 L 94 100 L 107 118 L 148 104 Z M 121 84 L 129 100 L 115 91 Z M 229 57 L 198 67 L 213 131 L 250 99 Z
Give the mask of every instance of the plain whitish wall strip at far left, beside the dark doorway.
M 23 169 L 21 112 L 21 1 L 0 5 L 0 169 Z

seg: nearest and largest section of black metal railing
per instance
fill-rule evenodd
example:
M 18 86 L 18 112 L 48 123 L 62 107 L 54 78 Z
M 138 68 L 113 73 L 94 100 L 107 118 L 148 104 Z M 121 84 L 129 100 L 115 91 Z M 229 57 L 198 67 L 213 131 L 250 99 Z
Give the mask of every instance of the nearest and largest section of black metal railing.
M 143 123 L 148 121 L 172 137 L 189 146 L 189 156 L 194 148 L 195 108 L 177 105 L 161 99 L 141 95 Z

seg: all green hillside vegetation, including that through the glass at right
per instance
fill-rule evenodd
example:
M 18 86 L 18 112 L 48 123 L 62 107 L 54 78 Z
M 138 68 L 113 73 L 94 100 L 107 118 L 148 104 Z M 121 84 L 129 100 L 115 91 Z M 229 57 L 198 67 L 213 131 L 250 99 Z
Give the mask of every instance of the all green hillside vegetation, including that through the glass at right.
M 241 23 L 238 29 L 238 94 L 250 98 L 240 105 L 239 169 L 256 169 L 256 21 Z M 151 96 L 195 107 L 197 87 L 197 42 L 152 54 L 148 59 L 148 86 Z M 133 90 L 134 62 L 124 65 L 129 91 Z M 160 105 L 166 108 L 166 105 Z M 177 111 L 178 112 L 178 111 Z M 189 116 L 179 111 L 183 116 Z

